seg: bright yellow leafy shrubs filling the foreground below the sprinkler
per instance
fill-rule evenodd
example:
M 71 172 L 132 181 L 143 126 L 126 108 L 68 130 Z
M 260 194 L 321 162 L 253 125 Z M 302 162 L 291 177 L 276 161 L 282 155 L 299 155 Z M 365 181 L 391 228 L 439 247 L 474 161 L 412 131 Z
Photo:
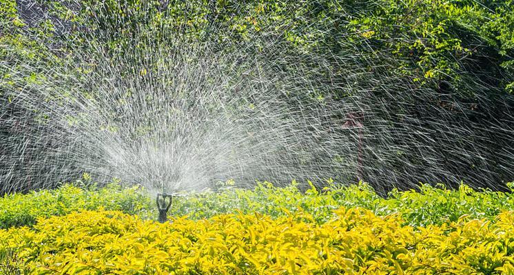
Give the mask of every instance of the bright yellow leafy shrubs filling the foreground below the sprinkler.
M 0 230 L 0 263 L 32 274 L 513 274 L 514 212 L 414 229 L 392 215 L 336 210 L 278 219 L 223 214 L 143 221 L 112 211 Z M 1 266 L 0 266 L 1 270 Z

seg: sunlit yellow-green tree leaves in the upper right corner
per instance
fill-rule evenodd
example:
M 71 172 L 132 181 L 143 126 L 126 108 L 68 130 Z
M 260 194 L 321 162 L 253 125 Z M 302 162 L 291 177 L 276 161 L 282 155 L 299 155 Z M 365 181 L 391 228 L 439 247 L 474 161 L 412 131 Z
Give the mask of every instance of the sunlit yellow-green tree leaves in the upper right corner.
M 504 88 L 514 80 L 501 68 L 512 60 L 513 15 L 512 1 L 381 0 L 350 25 L 377 50 L 391 50 L 405 74 L 446 81 L 458 91 L 472 89 L 461 81 L 476 77 L 493 81 L 501 74 L 495 84 Z M 493 74 L 480 72 L 484 66 Z

